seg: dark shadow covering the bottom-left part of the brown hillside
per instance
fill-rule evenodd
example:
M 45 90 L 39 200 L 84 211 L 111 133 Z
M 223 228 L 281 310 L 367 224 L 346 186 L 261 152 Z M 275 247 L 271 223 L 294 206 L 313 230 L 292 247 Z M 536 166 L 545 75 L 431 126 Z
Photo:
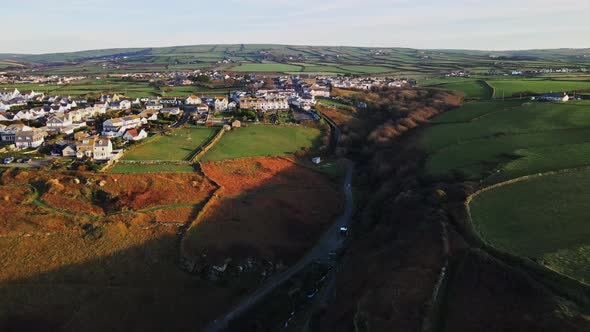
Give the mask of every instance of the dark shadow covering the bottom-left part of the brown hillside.
M 23 257 L 5 258 L 4 266 L 22 264 L 30 276 L 1 283 L 0 331 L 198 331 L 237 293 L 181 271 L 177 243 L 166 234 L 42 273 Z M 32 253 L 55 254 L 67 255 Z

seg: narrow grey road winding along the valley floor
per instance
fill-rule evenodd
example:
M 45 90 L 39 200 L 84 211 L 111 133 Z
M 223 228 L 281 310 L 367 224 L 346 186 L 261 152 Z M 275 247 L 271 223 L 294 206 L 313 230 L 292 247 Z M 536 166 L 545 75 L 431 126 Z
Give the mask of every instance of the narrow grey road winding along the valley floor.
M 271 293 L 277 287 L 289 280 L 295 274 L 303 270 L 305 266 L 314 261 L 327 261 L 330 259 L 330 253 L 340 250 L 344 245 L 344 238 L 340 233 L 341 227 L 349 227 L 352 220 L 353 197 L 352 197 L 352 173 L 353 163 L 346 160 L 346 176 L 344 179 L 344 195 L 346 196 L 346 205 L 344 214 L 324 233 L 318 243 L 295 265 L 286 271 L 270 278 L 261 288 L 257 289 L 248 297 L 242 299 L 235 307 L 227 312 L 223 317 L 213 321 L 206 329 L 206 332 L 218 332 L 227 328 L 230 321 L 239 317 L 262 300 L 266 295 Z

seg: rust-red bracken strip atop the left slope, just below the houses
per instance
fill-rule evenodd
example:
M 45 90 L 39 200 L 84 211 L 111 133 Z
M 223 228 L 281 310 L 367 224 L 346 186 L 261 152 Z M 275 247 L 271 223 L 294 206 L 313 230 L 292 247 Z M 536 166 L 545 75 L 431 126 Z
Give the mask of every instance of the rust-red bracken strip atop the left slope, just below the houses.
M 94 174 L 86 172 L 7 171 L 6 186 L 34 189 L 53 209 L 78 217 L 104 217 L 142 212 L 176 204 L 201 204 L 215 190 L 199 174 Z M 28 187 L 30 186 L 30 187 Z M 177 211 L 174 220 L 190 222 L 190 213 Z M 161 214 L 161 213 L 159 213 Z M 159 215 L 157 214 L 157 215 Z M 166 222 L 167 218 L 154 221 Z

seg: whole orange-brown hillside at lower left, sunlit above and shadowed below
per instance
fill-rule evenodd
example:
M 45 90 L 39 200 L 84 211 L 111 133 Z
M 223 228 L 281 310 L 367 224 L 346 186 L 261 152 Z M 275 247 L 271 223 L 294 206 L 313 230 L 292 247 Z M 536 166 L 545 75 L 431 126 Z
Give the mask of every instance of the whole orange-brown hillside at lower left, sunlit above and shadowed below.
M 242 294 L 178 266 L 214 189 L 197 173 L 3 172 L 0 331 L 201 329 Z

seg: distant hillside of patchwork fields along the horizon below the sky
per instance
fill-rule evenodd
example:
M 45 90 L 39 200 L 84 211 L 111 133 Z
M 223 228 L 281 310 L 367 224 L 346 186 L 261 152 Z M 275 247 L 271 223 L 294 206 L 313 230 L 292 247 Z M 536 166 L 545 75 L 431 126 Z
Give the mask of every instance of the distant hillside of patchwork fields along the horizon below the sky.
M 225 60 L 225 61 L 224 61 Z M 298 73 L 439 73 L 475 68 L 562 67 L 590 64 L 588 49 L 529 51 L 417 50 L 345 46 L 194 45 L 53 54 L 0 54 L 0 68 L 46 73 L 226 69 Z

